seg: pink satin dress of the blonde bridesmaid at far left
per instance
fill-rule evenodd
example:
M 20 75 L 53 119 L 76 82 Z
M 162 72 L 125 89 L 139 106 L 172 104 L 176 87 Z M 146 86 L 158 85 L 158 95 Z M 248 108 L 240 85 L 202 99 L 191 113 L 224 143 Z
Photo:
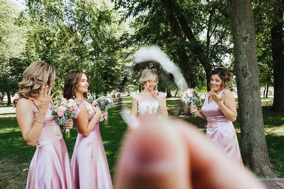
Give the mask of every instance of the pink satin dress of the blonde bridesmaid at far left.
M 34 118 L 38 109 L 34 106 Z M 70 158 L 59 125 L 48 108 L 28 172 L 27 189 L 75 188 Z

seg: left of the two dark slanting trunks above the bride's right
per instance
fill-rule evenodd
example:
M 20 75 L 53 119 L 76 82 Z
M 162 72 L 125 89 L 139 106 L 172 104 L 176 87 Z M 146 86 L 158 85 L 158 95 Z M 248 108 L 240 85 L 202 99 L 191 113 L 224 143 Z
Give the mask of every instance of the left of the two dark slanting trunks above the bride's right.
M 181 35 L 180 32 L 180 26 L 178 25 L 178 21 L 174 16 L 174 13 L 169 5 L 169 3 L 166 0 L 161 0 L 162 2 L 162 6 L 164 7 L 164 9 L 166 10 L 166 15 L 169 19 L 170 25 L 171 25 L 171 29 L 172 29 L 172 33 L 178 37 L 180 40 L 184 40 L 183 36 Z M 189 63 L 188 63 L 188 57 L 186 54 L 186 50 L 185 47 L 182 45 L 178 46 L 177 49 L 177 53 L 178 53 L 178 59 L 180 60 L 179 66 L 183 72 L 183 75 L 188 75 L 186 74 L 188 72 L 188 70 L 191 69 Z M 187 84 L 189 86 L 191 86 L 191 75 L 189 74 L 189 76 L 185 76 L 185 81 L 187 82 Z

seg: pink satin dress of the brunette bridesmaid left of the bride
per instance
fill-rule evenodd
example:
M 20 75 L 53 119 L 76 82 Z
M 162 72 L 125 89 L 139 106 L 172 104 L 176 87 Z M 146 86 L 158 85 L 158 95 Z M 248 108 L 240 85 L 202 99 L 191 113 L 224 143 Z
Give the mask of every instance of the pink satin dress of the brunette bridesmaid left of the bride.
M 95 115 L 91 102 L 82 101 L 88 111 L 89 121 Z M 78 136 L 76 139 L 71 167 L 75 180 L 76 189 L 112 189 L 112 179 L 110 177 L 109 165 L 106 159 L 99 122 L 88 136 L 83 136 L 78 124 L 73 119 Z

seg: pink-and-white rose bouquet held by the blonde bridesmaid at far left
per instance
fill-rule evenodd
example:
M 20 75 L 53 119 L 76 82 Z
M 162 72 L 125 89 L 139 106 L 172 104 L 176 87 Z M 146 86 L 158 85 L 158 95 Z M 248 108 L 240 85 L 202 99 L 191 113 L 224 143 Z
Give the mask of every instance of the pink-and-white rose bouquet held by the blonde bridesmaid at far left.
M 80 112 L 79 104 L 73 99 L 66 100 L 63 97 L 59 97 L 57 102 L 52 105 L 51 115 L 55 116 L 55 122 L 63 126 L 67 124 L 67 120 L 70 118 L 77 118 Z M 66 129 L 65 138 L 70 138 L 70 129 Z

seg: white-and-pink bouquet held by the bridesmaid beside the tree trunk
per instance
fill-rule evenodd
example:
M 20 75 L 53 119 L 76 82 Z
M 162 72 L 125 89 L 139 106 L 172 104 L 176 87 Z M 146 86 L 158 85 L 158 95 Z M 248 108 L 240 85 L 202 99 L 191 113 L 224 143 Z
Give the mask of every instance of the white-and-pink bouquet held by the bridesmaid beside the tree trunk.
M 197 90 L 193 88 L 187 89 L 185 92 L 183 92 L 181 100 L 184 101 L 185 104 L 190 104 L 191 106 L 195 106 L 196 102 L 201 102 L 199 92 L 197 92 Z M 192 114 L 192 117 L 197 117 L 195 112 Z

